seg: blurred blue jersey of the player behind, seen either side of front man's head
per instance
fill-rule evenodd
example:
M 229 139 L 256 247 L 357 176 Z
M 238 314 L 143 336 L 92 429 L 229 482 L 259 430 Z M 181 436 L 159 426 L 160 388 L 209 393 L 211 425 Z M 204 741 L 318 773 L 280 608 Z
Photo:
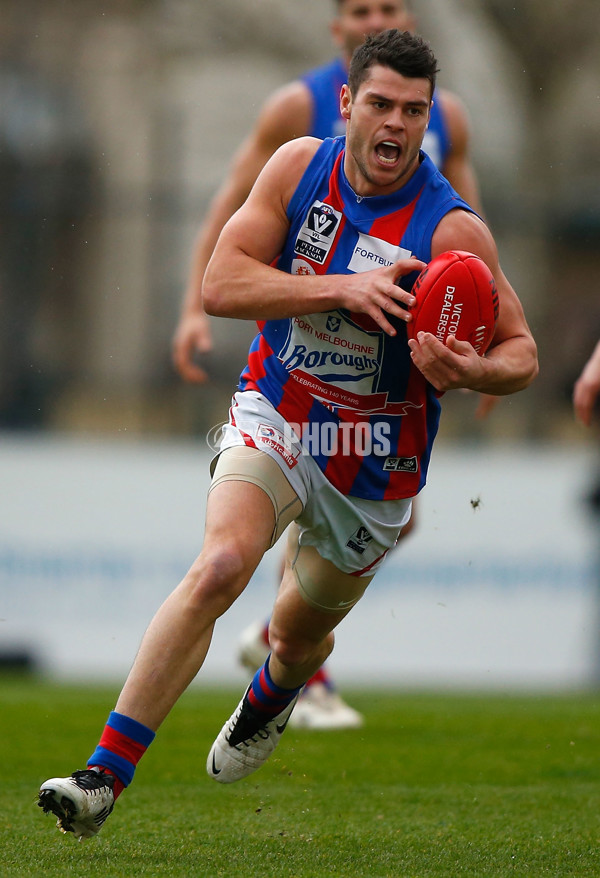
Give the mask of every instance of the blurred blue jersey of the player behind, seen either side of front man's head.
M 348 79 L 348 71 L 341 58 L 322 67 L 309 70 L 301 80 L 312 95 L 313 117 L 308 134 L 325 140 L 346 133 L 346 120 L 340 116 L 340 91 Z M 429 127 L 423 138 L 423 151 L 437 168 L 443 168 L 450 151 L 448 126 L 441 108 L 437 91 L 433 93 L 433 106 Z

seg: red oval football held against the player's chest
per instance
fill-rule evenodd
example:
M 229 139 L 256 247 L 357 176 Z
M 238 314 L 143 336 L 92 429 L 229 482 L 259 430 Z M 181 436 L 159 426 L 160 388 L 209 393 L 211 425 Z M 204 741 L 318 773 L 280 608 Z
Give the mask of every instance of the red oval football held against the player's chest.
M 430 332 L 441 342 L 449 335 L 470 342 L 483 356 L 498 319 L 498 291 L 491 271 L 479 256 L 448 250 L 432 259 L 416 279 L 408 337 Z

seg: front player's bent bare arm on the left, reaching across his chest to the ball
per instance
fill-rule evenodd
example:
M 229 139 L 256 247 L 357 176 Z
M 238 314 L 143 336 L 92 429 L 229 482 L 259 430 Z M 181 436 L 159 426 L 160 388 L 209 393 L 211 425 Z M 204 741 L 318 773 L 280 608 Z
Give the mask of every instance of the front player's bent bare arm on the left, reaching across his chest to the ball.
M 204 307 L 208 314 L 248 320 L 347 308 L 368 314 L 384 332 L 395 335 L 386 315 L 409 319 L 398 302 L 411 305 L 414 298 L 394 281 L 424 268 L 419 260 L 401 259 L 357 274 L 308 276 L 288 274 L 270 264 L 289 231 L 289 200 L 320 144 L 313 137 L 286 143 L 264 167 L 217 242 L 204 278 Z

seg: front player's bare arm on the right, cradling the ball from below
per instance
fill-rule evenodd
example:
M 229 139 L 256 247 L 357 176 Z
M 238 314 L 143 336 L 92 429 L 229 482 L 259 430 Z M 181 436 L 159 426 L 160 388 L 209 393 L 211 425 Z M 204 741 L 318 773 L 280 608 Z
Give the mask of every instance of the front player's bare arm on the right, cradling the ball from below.
M 472 214 L 453 210 L 441 220 L 432 239 L 432 256 L 446 250 L 476 253 L 494 275 L 500 302 L 496 331 L 485 357 L 454 336 L 444 345 L 435 336 L 420 333 L 409 341 L 415 365 L 440 391 L 466 387 L 504 396 L 523 390 L 538 372 L 536 345 L 521 303 L 500 268 L 489 229 Z

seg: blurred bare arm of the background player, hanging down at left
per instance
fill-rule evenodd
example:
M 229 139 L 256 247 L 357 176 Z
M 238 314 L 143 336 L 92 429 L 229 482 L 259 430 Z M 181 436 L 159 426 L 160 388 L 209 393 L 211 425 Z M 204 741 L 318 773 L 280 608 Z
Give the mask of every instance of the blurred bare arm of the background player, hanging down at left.
M 301 82 L 275 92 L 264 105 L 256 125 L 238 150 L 227 178 L 213 198 L 200 228 L 186 287 L 181 317 L 173 338 L 173 360 L 187 381 L 203 381 L 206 375 L 193 363 L 195 351 L 211 348 L 209 321 L 202 307 L 202 281 L 206 266 L 225 223 L 248 197 L 248 193 L 273 153 L 283 143 L 306 134 L 312 116 L 312 100 Z

